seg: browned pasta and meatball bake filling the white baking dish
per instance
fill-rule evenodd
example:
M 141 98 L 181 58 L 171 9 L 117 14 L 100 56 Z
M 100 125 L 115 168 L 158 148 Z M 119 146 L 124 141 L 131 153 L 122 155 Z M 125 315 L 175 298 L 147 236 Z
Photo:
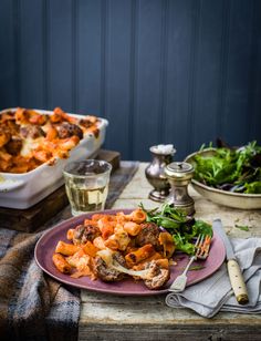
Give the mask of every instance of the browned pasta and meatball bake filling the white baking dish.
M 43 163 L 52 165 L 88 133 L 98 135 L 98 118 L 79 118 L 55 107 L 51 115 L 18 107 L 0 115 L 0 172 L 27 173 Z

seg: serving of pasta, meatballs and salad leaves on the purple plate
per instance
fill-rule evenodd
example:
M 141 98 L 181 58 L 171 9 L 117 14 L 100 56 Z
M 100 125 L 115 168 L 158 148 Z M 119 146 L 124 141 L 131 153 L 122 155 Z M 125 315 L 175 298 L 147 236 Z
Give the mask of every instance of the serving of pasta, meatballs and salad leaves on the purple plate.
M 157 290 L 170 278 L 176 246 L 191 254 L 194 237 L 212 236 L 208 224 L 188 223 L 181 219 L 185 216 L 174 219 L 169 213 L 181 215 L 168 205 L 154 211 L 137 208 L 129 214 L 93 214 L 91 219 L 67 230 L 67 242 L 58 241 L 53 264 L 60 272 L 73 278 L 88 276 L 109 283 L 130 277 Z M 164 221 L 168 221 L 167 228 L 160 227 Z

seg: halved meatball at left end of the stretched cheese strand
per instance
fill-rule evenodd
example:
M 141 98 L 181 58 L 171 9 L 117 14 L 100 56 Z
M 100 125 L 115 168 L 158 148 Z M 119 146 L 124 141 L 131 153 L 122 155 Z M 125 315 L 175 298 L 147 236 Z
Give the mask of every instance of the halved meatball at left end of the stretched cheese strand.
M 123 267 L 126 267 L 125 259 L 121 254 L 115 252 L 113 255 L 113 258 L 118 264 L 121 264 Z M 98 256 L 95 257 L 95 259 L 94 259 L 94 268 L 95 268 L 95 272 L 97 273 L 97 277 L 105 282 L 119 281 L 125 277 L 125 275 L 123 272 L 119 272 L 119 271 L 108 267 L 106 265 L 106 262 Z

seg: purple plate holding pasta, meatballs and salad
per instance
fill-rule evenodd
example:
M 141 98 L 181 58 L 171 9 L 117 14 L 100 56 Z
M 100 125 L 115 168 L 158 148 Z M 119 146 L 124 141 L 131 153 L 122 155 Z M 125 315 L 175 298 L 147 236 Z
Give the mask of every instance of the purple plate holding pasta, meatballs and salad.
M 130 213 L 133 209 L 115 209 L 104 210 L 103 214 L 114 215 L 117 211 Z M 84 219 L 91 218 L 92 214 L 73 217 L 56 225 L 52 229 L 48 230 L 38 241 L 34 249 L 34 258 L 39 267 L 55 278 L 56 280 L 70 285 L 73 287 L 88 289 L 92 291 L 106 292 L 112 294 L 122 296 L 152 296 L 168 292 L 168 287 L 174 279 L 182 272 L 186 264 L 188 262 L 188 256 L 185 254 L 175 254 L 174 260 L 176 266 L 170 268 L 170 279 L 160 290 L 149 290 L 143 281 L 134 281 L 133 279 L 125 279 L 119 282 L 106 283 L 101 280 L 91 280 L 88 277 L 72 278 L 69 275 L 61 273 L 56 270 L 52 262 L 52 256 L 54 254 L 56 244 L 59 240 L 67 242 L 66 231 L 70 228 L 75 228 L 82 224 Z M 195 261 L 194 266 L 202 266 L 200 270 L 188 271 L 188 286 L 197 283 L 202 279 L 211 276 L 217 271 L 225 260 L 225 246 L 220 237 L 213 232 L 211 240 L 211 248 L 208 258 L 205 261 Z

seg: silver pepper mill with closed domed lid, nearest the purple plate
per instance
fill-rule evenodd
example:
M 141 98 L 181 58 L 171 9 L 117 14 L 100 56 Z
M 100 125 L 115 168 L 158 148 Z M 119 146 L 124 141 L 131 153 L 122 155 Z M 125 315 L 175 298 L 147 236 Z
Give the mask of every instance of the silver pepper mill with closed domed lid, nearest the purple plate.
M 192 216 L 195 214 L 195 202 L 188 195 L 188 185 L 194 176 L 192 165 L 185 162 L 175 162 L 167 165 L 164 172 L 171 186 L 167 203 L 184 210 L 188 216 Z

